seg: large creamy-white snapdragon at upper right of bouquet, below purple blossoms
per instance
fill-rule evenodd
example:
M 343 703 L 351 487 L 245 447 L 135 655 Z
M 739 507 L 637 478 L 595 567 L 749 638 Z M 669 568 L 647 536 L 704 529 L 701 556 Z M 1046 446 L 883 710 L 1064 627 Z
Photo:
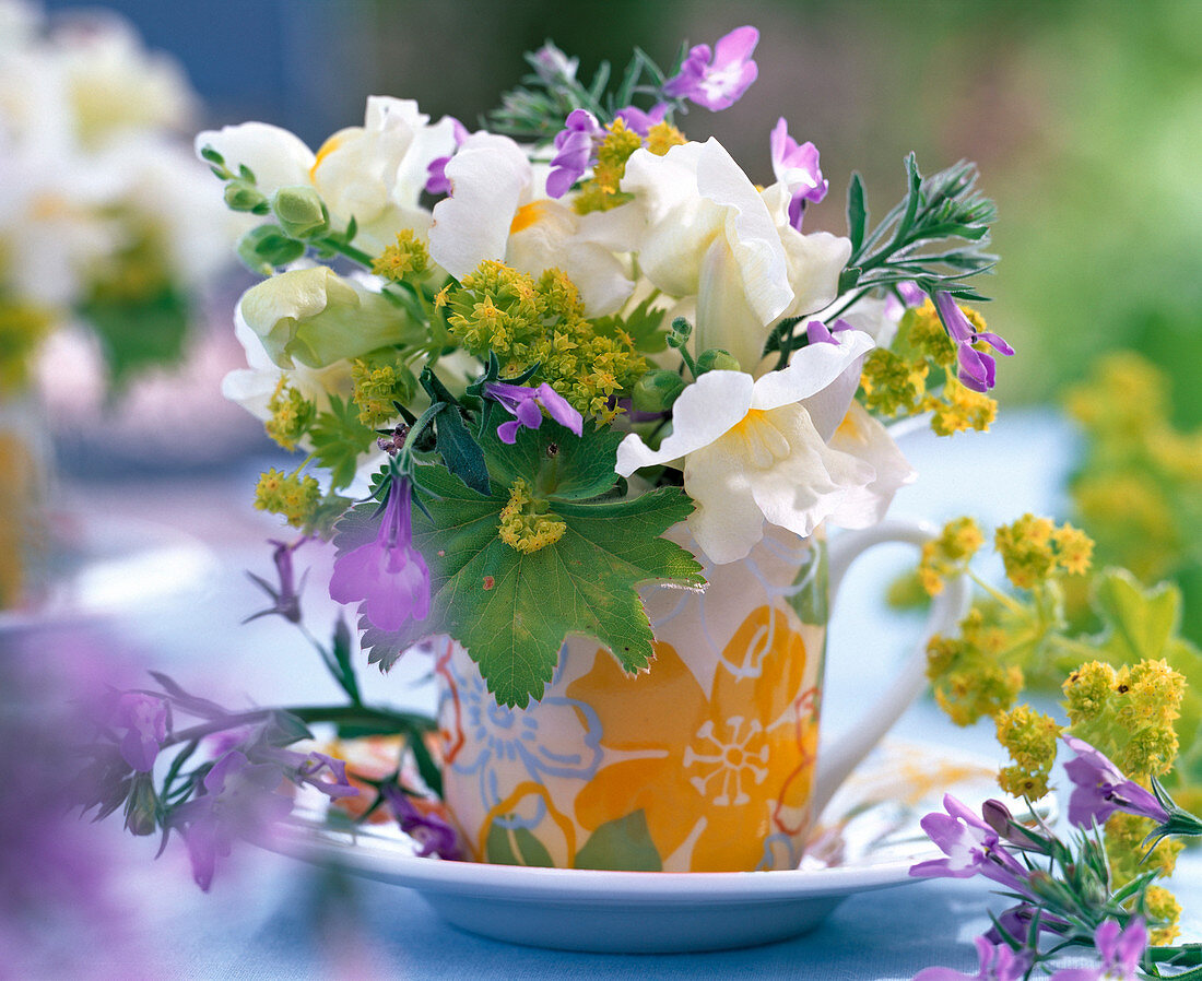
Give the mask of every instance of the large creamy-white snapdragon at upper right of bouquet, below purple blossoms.
M 789 190 L 760 192 L 716 139 L 664 156 L 636 150 L 617 210 L 641 214 L 643 274 L 674 297 L 697 297 L 697 350 L 722 347 L 758 373 L 773 323 L 829 304 L 851 243 L 789 224 Z

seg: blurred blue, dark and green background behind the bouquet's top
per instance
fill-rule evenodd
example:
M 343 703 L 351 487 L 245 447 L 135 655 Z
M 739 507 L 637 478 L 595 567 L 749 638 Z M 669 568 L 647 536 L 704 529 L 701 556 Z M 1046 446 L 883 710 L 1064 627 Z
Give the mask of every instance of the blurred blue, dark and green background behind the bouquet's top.
M 52 12 L 73 8 L 47 4 Z M 113 0 L 150 48 L 183 64 L 207 126 L 260 119 L 320 145 L 362 119 L 364 96 L 416 99 L 474 121 L 552 37 L 620 67 L 632 46 L 661 64 L 682 40 L 761 30 L 760 78 L 736 112 L 695 109 L 752 178 L 768 131 L 822 153 L 832 192 L 808 227 L 844 231 L 858 170 L 877 214 L 924 171 L 981 165 L 1004 262 L 984 285 L 990 326 L 1020 361 L 1004 403 L 1047 402 L 1102 351 L 1136 347 L 1173 380 L 1179 422 L 1202 420 L 1202 4 L 1191 0 Z M 813 221 L 813 226 L 809 224 Z M 246 420 L 250 426 L 250 421 Z

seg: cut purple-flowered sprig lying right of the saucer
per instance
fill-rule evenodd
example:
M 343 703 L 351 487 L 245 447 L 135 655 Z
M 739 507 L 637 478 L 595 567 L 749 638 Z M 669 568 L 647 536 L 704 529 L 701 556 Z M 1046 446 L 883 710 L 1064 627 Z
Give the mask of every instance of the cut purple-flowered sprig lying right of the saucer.
M 1064 767 L 1072 784 L 1070 842 L 1042 824 L 1016 821 L 999 801 L 987 801 L 977 818 L 948 795 L 946 814 L 922 820 L 946 857 L 920 862 L 911 875 L 981 875 L 1016 904 L 990 914 L 993 927 L 976 940 L 977 974 L 927 968 L 915 981 L 1025 981 L 1036 969 L 1053 981 L 1130 981 L 1137 970 L 1150 977 L 1202 977 L 1202 946 L 1171 946 L 1178 909 L 1156 885 L 1161 866 L 1153 862 L 1130 881 L 1115 884 L 1100 828 L 1117 814 L 1148 824 L 1152 831 L 1143 845 L 1150 856 L 1165 839 L 1202 836 L 1202 820 L 1179 808 L 1155 778 L 1149 791 L 1084 739 L 1067 736 L 1064 743 L 1073 753 Z M 1052 973 L 1057 958 L 1083 947 L 1096 957 L 1096 967 Z

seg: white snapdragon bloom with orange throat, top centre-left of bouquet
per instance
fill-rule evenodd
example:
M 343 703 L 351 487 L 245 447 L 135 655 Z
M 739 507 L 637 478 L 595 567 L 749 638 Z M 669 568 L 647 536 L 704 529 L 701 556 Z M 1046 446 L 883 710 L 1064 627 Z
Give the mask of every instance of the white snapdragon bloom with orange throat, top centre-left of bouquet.
M 462 279 L 489 258 L 535 277 L 558 268 L 590 316 L 614 313 L 630 296 L 624 264 L 600 240 L 609 226 L 546 197 L 546 173 L 508 137 L 468 137 L 446 177 L 452 190 L 434 206 L 430 257 L 451 275 Z

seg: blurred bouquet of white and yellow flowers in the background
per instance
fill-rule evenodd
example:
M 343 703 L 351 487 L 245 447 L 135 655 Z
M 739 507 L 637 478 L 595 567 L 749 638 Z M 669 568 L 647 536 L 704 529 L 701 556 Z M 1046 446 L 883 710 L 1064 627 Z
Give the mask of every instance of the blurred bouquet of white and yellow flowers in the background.
M 114 385 L 178 361 L 239 224 L 182 143 L 198 107 L 182 70 L 115 14 L 0 0 L 0 392 L 69 326 Z

